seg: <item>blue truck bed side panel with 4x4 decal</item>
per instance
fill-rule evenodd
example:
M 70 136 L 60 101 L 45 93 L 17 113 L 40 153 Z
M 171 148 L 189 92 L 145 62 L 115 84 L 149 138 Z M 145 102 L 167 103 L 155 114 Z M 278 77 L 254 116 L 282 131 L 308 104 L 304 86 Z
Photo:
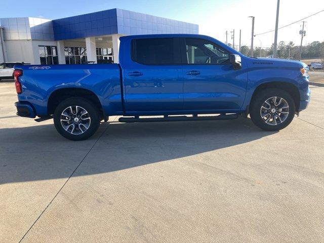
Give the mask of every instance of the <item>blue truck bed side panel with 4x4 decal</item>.
M 84 88 L 96 94 L 102 108 L 122 112 L 120 67 L 118 64 L 17 65 L 23 70 L 24 89 L 18 98 L 29 102 L 39 115 L 47 115 L 50 95 L 62 88 Z

